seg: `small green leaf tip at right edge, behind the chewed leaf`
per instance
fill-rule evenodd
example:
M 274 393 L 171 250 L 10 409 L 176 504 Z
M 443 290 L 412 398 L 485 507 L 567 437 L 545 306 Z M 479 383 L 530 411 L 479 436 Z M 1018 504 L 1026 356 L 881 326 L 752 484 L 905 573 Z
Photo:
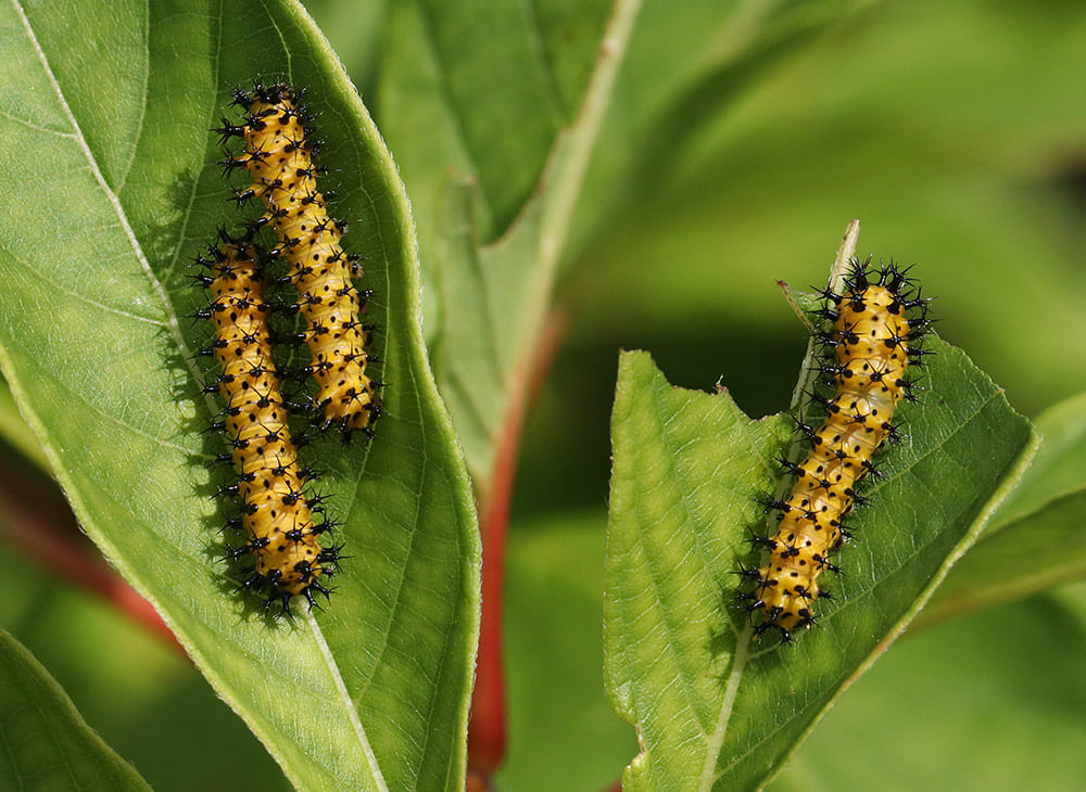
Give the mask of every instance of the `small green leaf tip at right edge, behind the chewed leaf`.
M 1086 573 L 1086 394 L 1056 405 L 1036 426 L 1045 438 L 1036 459 L 915 627 Z

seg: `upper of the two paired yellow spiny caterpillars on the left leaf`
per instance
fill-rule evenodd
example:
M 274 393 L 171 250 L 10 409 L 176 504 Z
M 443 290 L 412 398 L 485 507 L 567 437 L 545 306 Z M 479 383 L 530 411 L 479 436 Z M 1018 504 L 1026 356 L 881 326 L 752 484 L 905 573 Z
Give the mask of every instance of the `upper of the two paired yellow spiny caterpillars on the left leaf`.
M 323 429 L 338 425 L 345 438 L 354 430 L 371 436 L 380 416 L 375 394 L 380 383 L 366 375 L 372 328 L 359 319 L 369 294 L 351 281 L 361 269 L 357 257 L 340 247 L 346 225 L 328 216 L 317 190 L 316 177 L 324 170 L 313 163 L 318 144 L 305 137 L 303 123 L 311 119 L 281 82 L 236 91 L 233 103 L 248 111 L 244 125 L 224 118 L 216 131 L 224 143 L 243 138 L 245 150 L 222 164 L 228 171 L 244 167 L 252 174 L 252 184 L 236 197 L 239 204 L 254 196 L 264 201 L 267 212 L 258 225 L 275 229 L 277 252 L 290 264 L 288 280 L 299 291 L 296 307 L 306 325 L 302 337 L 312 355 L 305 373 L 317 383 L 311 407 L 323 411 Z

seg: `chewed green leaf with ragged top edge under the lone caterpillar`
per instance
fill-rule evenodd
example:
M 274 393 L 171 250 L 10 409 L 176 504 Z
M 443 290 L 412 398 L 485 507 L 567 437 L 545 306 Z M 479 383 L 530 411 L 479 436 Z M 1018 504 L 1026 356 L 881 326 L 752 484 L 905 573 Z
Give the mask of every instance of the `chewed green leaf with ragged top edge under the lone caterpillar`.
M 1032 456 L 1028 423 L 959 350 L 933 340 L 907 437 L 879 460 L 819 626 L 793 644 L 752 640 L 734 608 L 756 503 L 774 489 L 787 416 L 750 421 L 727 393 L 670 386 L 626 354 L 613 418 L 606 679 L 642 753 L 627 790 L 754 789 L 885 649 L 982 529 Z M 898 420 L 899 419 L 899 420 Z M 984 448 L 984 454 L 977 449 Z M 768 532 L 768 533 L 767 533 Z

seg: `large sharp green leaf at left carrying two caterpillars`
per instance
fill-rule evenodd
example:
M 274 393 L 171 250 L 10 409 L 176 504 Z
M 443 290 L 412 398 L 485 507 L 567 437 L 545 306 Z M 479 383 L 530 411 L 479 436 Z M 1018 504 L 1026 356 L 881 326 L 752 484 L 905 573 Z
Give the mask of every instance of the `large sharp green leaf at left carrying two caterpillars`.
M 0 47 L 0 180 L 20 186 L 0 199 L 0 366 L 83 527 L 296 785 L 462 789 L 473 504 L 422 346 L 403 186 L 334 54 L 296 3 L 244 1 L 14 5 Z M 209 129 L 254 77 L 308 89 L 390 383 L 371 445 L 302 450 L 350 558 L 327 608 L 294 622 L 254 613 L 218 559 L 229 508 L 207 496 L 229 474 L 209 471 L 219 406 L 193 353 L 210 329 L 187 319 L 207 298 L 186 261 L 241 220 Z

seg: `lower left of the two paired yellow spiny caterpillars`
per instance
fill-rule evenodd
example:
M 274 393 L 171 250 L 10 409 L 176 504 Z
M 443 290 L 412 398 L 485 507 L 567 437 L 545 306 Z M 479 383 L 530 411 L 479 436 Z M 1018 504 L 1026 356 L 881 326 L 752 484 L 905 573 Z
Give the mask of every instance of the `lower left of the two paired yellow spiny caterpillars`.
M 230 460 L 239 474 L 236 491 L 241 516 L 231 526 L 243 528 L 249 539 L 229 555 L 251 554 L 254 566 L 242 584 L 265 591 L 265 606 L 280 602 L 290 613 L 290 599 L 304 597 L 315 604 L 314 591 L 329 590 L 318 578 L 333 574 L 339 548 L 321 548 L 317 537 L 331 525 L 324 519 L 319 499 L 303 491 L 312 474 L 298 464 L 298 454 L 287 425 L 288 410 L 272 360 L 261 269 L 265 255 L 245 240 L 224 237 L 210 247 L 210 258 L 197 264 L 207 270 L 198 280 L 211 291 L 211 304 L 197 316 L 211 319 L 215 341 L 204 350 L 214 355 L 223 373 L 209 393 L 226 399 L 222 420 L 214 427 L 226 431 Z M 314 515 L 321 522 L 315 523 Z

